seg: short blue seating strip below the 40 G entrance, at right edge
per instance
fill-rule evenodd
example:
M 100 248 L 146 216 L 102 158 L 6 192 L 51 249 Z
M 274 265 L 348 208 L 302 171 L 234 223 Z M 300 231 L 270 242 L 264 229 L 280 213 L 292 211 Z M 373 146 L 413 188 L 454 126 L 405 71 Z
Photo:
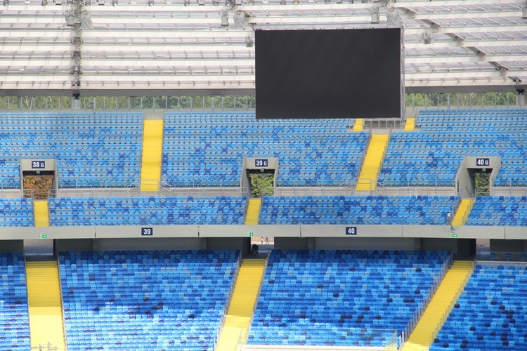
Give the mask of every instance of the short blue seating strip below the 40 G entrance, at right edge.
M 476 197 L 465 225 L 527 227 L 527 197 Z

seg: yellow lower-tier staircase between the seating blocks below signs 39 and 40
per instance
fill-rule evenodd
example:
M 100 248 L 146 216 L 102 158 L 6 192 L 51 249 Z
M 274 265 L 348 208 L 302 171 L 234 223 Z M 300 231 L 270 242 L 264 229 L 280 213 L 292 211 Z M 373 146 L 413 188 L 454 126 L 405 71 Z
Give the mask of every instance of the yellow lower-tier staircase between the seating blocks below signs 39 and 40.
M 234 351 L 239 341 L 245 343 L 265 265 L 263 259 L 242 261 L 216 351 Z

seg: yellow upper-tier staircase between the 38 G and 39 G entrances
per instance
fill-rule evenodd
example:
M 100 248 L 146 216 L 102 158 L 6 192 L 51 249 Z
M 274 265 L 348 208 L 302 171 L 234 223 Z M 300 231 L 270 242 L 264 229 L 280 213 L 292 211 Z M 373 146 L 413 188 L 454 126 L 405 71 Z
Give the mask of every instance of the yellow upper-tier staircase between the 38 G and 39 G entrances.
M 141 191 L 160 190 L 163 153 L 163 120 L 146 120 L 143 126 L 143 156 L 141 157 Z

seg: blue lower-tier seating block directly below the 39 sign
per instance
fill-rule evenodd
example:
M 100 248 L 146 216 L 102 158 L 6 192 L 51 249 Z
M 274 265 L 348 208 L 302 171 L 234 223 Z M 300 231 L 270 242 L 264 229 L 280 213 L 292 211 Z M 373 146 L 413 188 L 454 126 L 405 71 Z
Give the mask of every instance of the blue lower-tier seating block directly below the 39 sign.
M 214 350 L 239 256 L 60 253 L 68 350 Z

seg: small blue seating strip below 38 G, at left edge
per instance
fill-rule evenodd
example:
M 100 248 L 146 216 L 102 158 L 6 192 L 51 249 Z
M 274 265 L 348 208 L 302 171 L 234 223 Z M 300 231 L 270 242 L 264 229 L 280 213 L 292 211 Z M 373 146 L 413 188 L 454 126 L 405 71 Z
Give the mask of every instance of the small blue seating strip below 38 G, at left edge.
M 0 199 L 0 227 L 33 226 L 33 199 Z

